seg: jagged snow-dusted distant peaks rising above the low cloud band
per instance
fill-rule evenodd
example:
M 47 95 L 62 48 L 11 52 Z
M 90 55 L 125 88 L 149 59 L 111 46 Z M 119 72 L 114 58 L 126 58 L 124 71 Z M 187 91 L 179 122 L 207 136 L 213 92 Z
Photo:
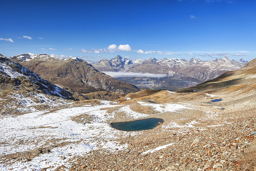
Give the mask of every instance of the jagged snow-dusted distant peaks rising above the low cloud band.
M 154 74 L 167 74 L 169 76 L 185 74 L 195 77 L 203 81 L 216 78 L 217 76 L 231 70 L 238 70 L 248 63 L 245 59 L 239 62 L 229 60 L 228 57 L 214 59 L 209 61 L 201 61 L 200 59 L 191 58 L 189 61 L 178 58 L 148 58 L 145 60 L 137 59 L 135 61 L 127 58 L 122 59 L 116 56 L 111 60 L 102 59 L 94 62 L 92 65 L 99 71 L 113 72 L 142 72 Z

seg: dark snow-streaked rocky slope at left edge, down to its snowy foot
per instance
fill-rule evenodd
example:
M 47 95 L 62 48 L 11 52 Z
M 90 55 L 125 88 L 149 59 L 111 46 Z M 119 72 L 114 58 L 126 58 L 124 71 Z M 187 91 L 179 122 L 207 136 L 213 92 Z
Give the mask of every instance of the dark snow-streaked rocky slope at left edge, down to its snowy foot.
M 83 95 L 59 87 L 0 55 L 0 114 L 61 108 L 68 100 L 86 100 Z

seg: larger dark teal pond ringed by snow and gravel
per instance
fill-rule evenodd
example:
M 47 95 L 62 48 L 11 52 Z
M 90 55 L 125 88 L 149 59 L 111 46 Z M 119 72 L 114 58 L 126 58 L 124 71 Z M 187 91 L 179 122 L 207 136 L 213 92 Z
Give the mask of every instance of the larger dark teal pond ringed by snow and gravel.
M 113 122 L 110 125 L 111 127 L 121 131 L 142 131 L 153 129 L 154 127 L 160 125 L 158 122 L 163 123 L 164 120 L 152 117 L 129 122 Z

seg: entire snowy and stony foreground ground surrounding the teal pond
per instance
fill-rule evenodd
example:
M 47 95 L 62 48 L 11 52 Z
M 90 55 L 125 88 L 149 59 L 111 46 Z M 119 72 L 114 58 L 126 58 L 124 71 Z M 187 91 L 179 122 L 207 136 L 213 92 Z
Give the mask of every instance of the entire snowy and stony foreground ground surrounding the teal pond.
M 2 126 L 10 125 L 4 125 L 9 132 L 1 136 L 0 166 L 33 171 L 255 170 L 255 100 L 234 106 L 228 97 L 216 98 L 223 100 L 206 103 L 213 99 L 206 95 L 193 102 L 167 104 L 78 102 L 68 109 L 1 117 Z M 88 115 L 94 115 L 91 123 L 79 121 L 91 119 Z M 29 116 L 34 119 L 18 125 Z M 135 132 L 109 125 L 149 117 L 164 122 Z

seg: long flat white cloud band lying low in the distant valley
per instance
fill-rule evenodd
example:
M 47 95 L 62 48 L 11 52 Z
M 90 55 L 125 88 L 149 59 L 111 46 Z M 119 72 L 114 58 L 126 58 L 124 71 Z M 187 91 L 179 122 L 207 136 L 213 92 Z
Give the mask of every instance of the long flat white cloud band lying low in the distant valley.
M 111 77 L 153 77 L 153 78 L 162 78 L 167 77 L 166 74 L 152 74 L 152 73 L 141 73 L 141 72 L 110 72 L 104 71 L 105 74 Z

